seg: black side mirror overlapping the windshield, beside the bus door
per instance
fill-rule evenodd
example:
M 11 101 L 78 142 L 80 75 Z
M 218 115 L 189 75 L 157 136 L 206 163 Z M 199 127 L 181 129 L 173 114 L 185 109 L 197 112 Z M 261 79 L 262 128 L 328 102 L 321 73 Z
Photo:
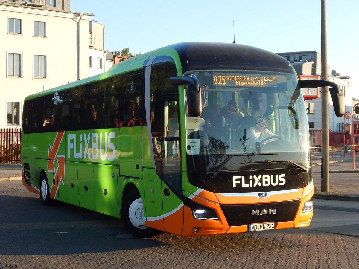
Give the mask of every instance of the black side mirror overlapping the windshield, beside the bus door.
M 188 114 L 199 117 L 202 113 L 202 96 L 198 80 L 189 76 L 170 77 L 172 85 L 185 85 L 187 94 Z

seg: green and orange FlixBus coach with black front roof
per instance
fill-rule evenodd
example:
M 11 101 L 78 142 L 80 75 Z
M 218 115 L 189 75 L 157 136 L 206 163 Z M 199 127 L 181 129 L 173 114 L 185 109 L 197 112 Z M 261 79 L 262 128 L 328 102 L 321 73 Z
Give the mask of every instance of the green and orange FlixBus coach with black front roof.
M 27 96 L 23 184 L 122 219 L 135 236 L 308 226 L 309 127 L 299 81 L 274 53 L 188 42 Z

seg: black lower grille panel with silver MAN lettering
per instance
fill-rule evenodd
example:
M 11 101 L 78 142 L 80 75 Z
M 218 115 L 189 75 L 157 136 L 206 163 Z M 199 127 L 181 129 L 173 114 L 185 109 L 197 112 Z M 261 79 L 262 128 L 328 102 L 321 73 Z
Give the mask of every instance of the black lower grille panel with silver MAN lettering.
M 222 205 L 229 226 L 293 221 L 300 200 L 268 204 Z

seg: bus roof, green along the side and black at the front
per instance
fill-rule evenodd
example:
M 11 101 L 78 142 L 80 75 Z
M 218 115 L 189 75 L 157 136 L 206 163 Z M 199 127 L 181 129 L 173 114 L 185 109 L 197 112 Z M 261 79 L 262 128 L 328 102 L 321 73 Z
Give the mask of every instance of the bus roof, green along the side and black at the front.
M 236 43 L 184 42 L 155 49 L 128 60 L 117 63 L 107 72 L 74 81 L 56 88 L 29 95 L 33 99 L 42 95 L 70 89 L 78 85 L 105 79 L 117 74 L 142 69 L 151 57 L 167 55 L 171 57 L 182 74 L 198 69 L 258 69 L 295 72 L 283 57 L 264 49 Z M 181 74 L 179 74 L 181 75 Z

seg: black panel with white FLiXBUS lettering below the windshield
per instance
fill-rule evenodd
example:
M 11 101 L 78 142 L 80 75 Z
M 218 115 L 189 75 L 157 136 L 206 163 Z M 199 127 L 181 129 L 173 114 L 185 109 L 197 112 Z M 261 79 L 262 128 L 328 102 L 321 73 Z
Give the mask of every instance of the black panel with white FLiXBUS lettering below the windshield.
M 273 192 L 299 189 L 311 181 L 311 169 L 266 169 L 223 171 L 211 177 L 206 172 L 188 172 L 190 184 L 215 193 Z

